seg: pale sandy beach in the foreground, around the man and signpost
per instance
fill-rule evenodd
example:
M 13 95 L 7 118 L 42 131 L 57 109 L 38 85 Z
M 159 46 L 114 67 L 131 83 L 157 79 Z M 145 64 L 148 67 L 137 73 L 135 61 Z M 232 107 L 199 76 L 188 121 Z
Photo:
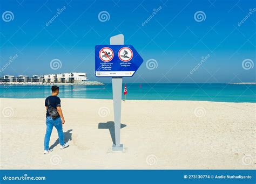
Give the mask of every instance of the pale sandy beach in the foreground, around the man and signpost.
M 121 143 L 113 153 L 113 102 L 62 98 L 65 141 L 53 128 L 43 154 L 44 99 L 1 98 L 2 169 L 254 169 L 256 104 L 122 102 Z

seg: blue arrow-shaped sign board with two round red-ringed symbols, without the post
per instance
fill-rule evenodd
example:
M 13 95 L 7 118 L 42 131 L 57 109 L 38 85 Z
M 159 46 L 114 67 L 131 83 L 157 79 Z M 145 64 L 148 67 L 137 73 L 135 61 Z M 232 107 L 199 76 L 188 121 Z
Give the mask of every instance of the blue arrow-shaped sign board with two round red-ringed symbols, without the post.
M 142 57 L 132 45 L 95 46 L 97 77 L 131 77 L 142 63 Z

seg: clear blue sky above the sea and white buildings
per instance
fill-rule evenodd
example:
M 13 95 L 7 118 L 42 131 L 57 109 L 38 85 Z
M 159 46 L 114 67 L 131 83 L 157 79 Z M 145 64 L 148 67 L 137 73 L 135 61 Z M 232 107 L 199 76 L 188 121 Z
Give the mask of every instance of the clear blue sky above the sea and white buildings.
M 242 67 L 244 60 L 255 64 L 253 0 L 0 2 L 1 15 L 6 11 L 14 15 L 9 22 L 0 20 L 1 67 L 18 54 L 1 76 L 86 72 L 89 80 L 110 82 L 94 75 L 95 45 L 109 44 L 111 36 L 123 33 L 125 44 L 133 45 L 144 59 L 125 82 L 255 82 L 256 66 Z M 250 9 L 250 17 L 238 25 Z M 106 22 L 98 19 L 102 11 L 110 15 Z M 198 11 L 205 14 L 201 22 L 194 18 Z M 208 54 L 202 63 L 202 56 Z M 62 67 L 53 70 L 53 59 L 59 59 Z M 151 59 L 157 68 L 147 68 L 146 61 Z

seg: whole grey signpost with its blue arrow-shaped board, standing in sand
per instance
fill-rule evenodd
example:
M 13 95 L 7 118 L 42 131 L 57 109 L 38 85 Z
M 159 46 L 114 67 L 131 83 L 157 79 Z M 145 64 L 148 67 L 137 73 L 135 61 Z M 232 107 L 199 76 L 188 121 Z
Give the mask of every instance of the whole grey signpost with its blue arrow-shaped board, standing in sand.
M 133 76 L 142 63 L 136 49 L 132 45 L 124 45 L 123 34 L 111 37 L 110 45 L 95 46 L 95 75 L 112 77 L 115 136 L 112 151 L 123 151 L 123 144 L 120 144 L 123 77 Z

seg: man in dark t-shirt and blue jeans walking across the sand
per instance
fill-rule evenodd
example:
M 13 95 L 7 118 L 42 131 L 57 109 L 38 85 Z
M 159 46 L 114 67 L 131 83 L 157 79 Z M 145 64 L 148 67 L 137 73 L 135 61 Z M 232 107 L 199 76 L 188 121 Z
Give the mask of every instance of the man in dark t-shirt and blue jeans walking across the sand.
M 62 125 L 65 123 L 64 116 L 62 114 L 62 109 L 60 107 L 60 98 L 57 97 L 59 94 L 59 87 L 51 87 L 52 94 L 45 99 L 45 108 L 46 108 L 46 133 L 44 137 L 44 154 L 48 154 L 49 150 L 49 141 L 51 138 L 51 132 L 53 126 L 57 129 L 59 136 L 60 149 L 68 147 L 68 143 L 64 143 L 64 133 L 62 130 Z M 52 113 L 53 112 L 53 113 Z M 54 112 L 56 112 L 54 114 Z

